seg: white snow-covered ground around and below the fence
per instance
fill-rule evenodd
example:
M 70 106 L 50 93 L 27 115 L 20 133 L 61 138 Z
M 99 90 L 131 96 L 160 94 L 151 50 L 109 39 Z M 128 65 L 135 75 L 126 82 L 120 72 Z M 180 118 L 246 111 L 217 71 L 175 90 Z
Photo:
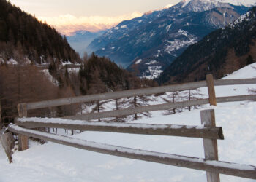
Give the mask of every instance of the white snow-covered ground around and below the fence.
M 256 63 L 236 71 L 225 79 L 253 78 Z M 246 95 L 252 85 L 216 87 L 217 96 Z M 201 89 L 207 93 L 206 88 Z M 222 126 L 225 140 L 218 141 L 219 160 L 256 165 L 256 102 L 218 103 L 200 109 L 164 116 L 155 111 L 151 118 L 136 123 L 200 125 L 200 110 L 214 108 L 217 126 Z M 133 121 L 135 123 L 135 121 Z M 132 135 L 113 132 L 83 132 L 75 135 L 88 141 L 135 149 L 204 157 L 203 140 L 155 135 Z M 15 152 L 8 163 L 0 147 L 0 181 L 206 181 L 206 173 L 182 167 L 113 157 L 75 149 L 56 143 L 31 142 L 26 151 Z M 220 175 L 221 181 L 253 181 Z

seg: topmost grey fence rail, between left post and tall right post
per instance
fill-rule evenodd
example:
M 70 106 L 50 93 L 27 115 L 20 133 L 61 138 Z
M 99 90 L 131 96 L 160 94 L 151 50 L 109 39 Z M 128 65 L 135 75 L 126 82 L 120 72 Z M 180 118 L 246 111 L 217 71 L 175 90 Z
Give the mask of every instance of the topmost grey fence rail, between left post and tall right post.
M 196 89 L 198 87 L 206 87 L 206 81 L 200 82 L 190 82 L 186 84 L 173 84 L 167 85 L 162 87 L 151 87 L 145 89 L 136 89 L 136 90 L 125 90 L 125 91 L 118 91 L 118 92 L 108 92 L 96 95 L 85 95 L 79 97 L 72 97 L 72 98 L 60 98 L 56 100 L 45 100 L 40 102 L 34 103 L 27 103 L 27 109 L 37 109 L 37 108 L 48 108 L 54 106 L 65 106 L 74 103 L 86 103 L 92 101 L 99 101 L 99 100 L 108 100 L 108 99 L 118 99 L 118 98 L 128 98 L 128 97 L 135 97 L 140 95 L 152 95 L 157 93 L 165 93 L 165 92 L 176 92 L 180 90 L 189 90 L 189 89 Z

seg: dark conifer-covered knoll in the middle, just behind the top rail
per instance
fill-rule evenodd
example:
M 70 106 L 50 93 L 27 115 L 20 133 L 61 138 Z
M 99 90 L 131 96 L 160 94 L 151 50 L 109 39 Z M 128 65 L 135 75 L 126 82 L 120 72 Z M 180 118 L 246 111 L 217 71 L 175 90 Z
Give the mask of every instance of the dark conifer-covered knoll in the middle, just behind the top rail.
M 58 81 L 59 87 L 70 87 L 75 95 L 88 95 L 117 90 L 129 90 L 140 87 L 153 87 L 156 82 L 139 79 L 135 74 L 119 68 L 108 58 L 91 55 L 84 60 L 79 72 L 69 73 L 68 68 L 59 69 L 51 64 L 50 74 Z

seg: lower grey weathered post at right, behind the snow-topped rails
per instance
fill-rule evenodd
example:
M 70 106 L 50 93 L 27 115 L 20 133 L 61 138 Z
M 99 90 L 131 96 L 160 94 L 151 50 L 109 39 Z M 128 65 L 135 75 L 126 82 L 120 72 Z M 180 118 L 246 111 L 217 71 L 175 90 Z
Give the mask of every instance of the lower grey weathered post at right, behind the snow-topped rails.
M 201 123 L 206 127 L 216 127 L 214 109 L 201 111 Z M 216 139 L 203 139 L 205 158 L 208 160 L 219 160 Z M 208 173 L 207 182 L 219 182 L 219 173 Z

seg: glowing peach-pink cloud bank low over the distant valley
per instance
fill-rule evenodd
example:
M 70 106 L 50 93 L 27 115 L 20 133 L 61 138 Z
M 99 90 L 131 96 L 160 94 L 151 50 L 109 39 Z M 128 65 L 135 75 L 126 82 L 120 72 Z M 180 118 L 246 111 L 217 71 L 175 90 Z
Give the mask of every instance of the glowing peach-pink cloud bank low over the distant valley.
M 38 17 L 42 22 L 48 23 L 56 28 L 60 33 L 70 36 L 75 31 L 101 31 L 112 28 L 123 20 L 130 20 L 140 17 L 143 14 L 133 12 L 130 15 L 121 15 L 116 17 L 91 16 L 91 17 L 75 17 L 74 15 L 60 15 L 57 17 Z

